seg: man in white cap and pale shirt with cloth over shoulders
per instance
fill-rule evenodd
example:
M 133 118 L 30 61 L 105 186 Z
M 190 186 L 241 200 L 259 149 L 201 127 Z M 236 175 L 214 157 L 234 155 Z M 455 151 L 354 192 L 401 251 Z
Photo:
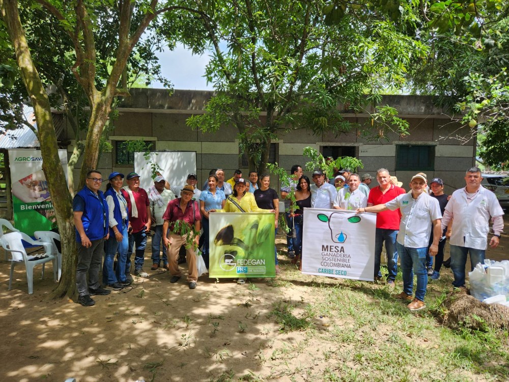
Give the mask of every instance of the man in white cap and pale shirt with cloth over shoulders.
M 150 209 L 152 215 L 152 225 L 154 227 L 154 236 L 152 237 L 152 267 L 150 269 L 156 270 L 161 265 L 160 248 L 161 240 L 163 238 L 162 225 L 164 220 L 162 215 L 166 211 L 168 202 L 175 199 L 175 194 L 164 187 L 166 180 L 158 175 L 154 179 L 154 185 L 149 188 Z M 166 257 L 166 247 L 162 245 L 162 263 L 164 268 L 169 270 L 168 258 Z

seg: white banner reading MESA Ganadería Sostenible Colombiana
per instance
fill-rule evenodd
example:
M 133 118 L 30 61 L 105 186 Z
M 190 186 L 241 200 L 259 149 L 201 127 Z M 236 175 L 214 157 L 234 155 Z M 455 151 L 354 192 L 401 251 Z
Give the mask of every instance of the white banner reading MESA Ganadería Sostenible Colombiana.
M 373 281 L 376 214 L 304 209 L 302 272 Z

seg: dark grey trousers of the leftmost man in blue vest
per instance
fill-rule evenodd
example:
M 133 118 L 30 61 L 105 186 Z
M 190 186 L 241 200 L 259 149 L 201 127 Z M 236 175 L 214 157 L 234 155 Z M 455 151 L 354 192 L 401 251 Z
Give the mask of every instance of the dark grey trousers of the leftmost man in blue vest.
M 104 253 L 104 239 L 92 240 L 89 248 L 76 243 L 78 247 L 78 265 L 76 267 L 76 288 L 79 296 L 89 294 L 90 289 L 98 289 L 99 270 L 101 270 L 102 255 Z M 88 276 L 88 278 L 87 278 Z

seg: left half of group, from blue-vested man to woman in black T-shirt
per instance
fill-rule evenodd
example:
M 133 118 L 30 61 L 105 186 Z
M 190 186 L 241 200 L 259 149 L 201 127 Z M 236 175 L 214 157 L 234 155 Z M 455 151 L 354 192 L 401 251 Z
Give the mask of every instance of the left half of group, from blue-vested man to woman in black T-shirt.
M 84 187 L 73 199 L 78 243 L 76 285 L 78 303 L 83 306 L 95 304 L 93 295 L 106 295 L 133 282 L 133 251 L 132 273 L 142 278 L 149 276 L 143 265 L 151 229 L 154 231 L 151 269 L 158 269 L 162 260 L 162 266 L 172 276 L 170 282 L 177 282 L 181 278 L 179 251 L 184 246 L 190 289 L 196 288 L 198 278 L 197 248 L 201 248 L 205 266 L 209 267 L 210 213 L 272 212 L 277 232 L 279 201 L 275 190 L 269 188 L 269 175 L 261 177 L 259 186 L 256 172 L 249 173 L 246 181 L 237 170 L 232 179 L 224 181 L 224 171 L 214 169 L 203 190 L 196 188 L 196 174 L 189 174 L 186 184 L 174 186 L 173 191 L 161 174 L 157 174 L 148 190 L 139 187 L 139 175 L 135 172 L 127 175 L 126 186 L 124 174 L 111 173 L 104 193 L 100 190 L 103 181 L 99 171 L 90 171 Z M 279 273 L 277 256 L 275 261 Z M 101 265 L 105 287 L 99 280 Z M 245 279 L 237 282 L 244 284 Z

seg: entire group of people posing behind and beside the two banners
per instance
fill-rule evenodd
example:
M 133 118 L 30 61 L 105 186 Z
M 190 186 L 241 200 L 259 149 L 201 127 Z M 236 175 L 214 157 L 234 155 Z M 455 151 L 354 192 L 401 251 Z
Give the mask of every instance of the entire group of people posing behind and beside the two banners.
M 85 186 L 73 200 L 78 266 L 76 285 L 78 302 L 94 305 L 93 295 L 108 294 L 132 283 L 130 275 L 133 248 L 134 275 L 148 277 L 143 270 L 147 234 L 152 238 L 152 270 L 160 267 L 162 240 L 163 267 L 171 274 L 171 282 L 181 277 L 178 266 L 179 250 L 186 246 L 189 267 L 187 282 L 196 287 L 196 248 L 201 248 L 203 260 L 209 267 L 209 216 L 214 212 L 273 212 L 275 230 L 278 228 L 279 198 L 270 188 L 270 176 L 250 172 L 248 181 L 240 170 L 225 180 L 222 169 L 210 172 L 203 189 L 196 188 L 196 174 L 189 174 L 186 184 L 170 189 L 162 175 L 154 179 L 148 190 L 139 187 L 139 175 L 118 172 L 108 177 L 108 187 L 100 191 L 101 173 L 92 170 Z M 337 171 L 328 180 L 321 170 L 312 173 L 312 182 L 294 165 L 291 175 L 282 181 L 281 198 L 285 203 L 288 226 L 288 257 L 302 269 L 302 229 L 305 208 L 344 209 L 356 213 L 375 212 L 375 280 L 382 279 L 380 258 L 385 244 L 387 253 L 386 283 L 395 286 L 400 258 L 403 292 L 399 298 L 408 300 L 410 310 L 426 307 L 424 303 L 428 277 L 440 277 L 446 239 L 450 239 L 450 267 L 455 287 L 465 286 L 465 264 L 470 254 L 472 269 L 483 262 L 487 248 L 490 218 L 494 235 L 490 246 L 497 247 L 503 230 L 503 210 L 495 195 L 480 185 L 482 174 L 476 167 L 466 171 L 466 186 L 450 197 L 443 192 L 444 183 L 434 178 L 429 184 L 424 173 L 414 175 L 410 191 L 402 188 L 387 169 L 379 169 L 378 186 L 370 188 L 370 174 L 360 177 L 349 170 Z M 259 182 L 260 180 L 260 182 Z M 367 189 L 367 192 L 366 192 Z M 200 230 L 203 228 L 203 234 Z M 189 244 L 192 245 L 189 245 Z M 105 244 L 105 245 L 104 245 Z M 102 257 L 102 284 L 99 280 Z M 117 266 L 114 259 L 118 253 Z M 276 273 L 279 273 L 274 247 Z M 433 257 L 435 266 L 433 267 Z M 88 274 L 88 280 L 87 280 Z M 417 277 L 415 294 L 413 276 Z M 245 279 L 238 279 L 239 284 Z

